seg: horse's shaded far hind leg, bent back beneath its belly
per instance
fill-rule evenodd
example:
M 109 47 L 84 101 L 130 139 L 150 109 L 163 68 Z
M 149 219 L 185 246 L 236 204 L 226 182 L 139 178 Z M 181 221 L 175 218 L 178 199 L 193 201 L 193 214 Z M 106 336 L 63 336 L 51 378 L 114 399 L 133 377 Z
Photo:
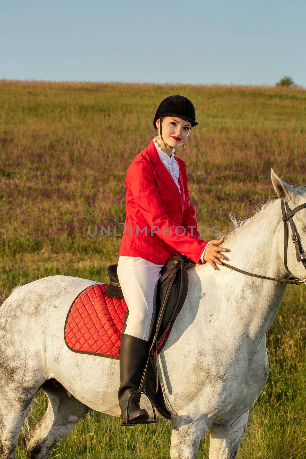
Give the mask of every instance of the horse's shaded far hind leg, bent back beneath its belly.
M 89 407 L 69 397 L 60 383 L 48 380 L 42 386 L 49 399 L 44 416 L 26 435 L 28 459 L 47 459 L 54 445 L 66 437 L 89 412 Z

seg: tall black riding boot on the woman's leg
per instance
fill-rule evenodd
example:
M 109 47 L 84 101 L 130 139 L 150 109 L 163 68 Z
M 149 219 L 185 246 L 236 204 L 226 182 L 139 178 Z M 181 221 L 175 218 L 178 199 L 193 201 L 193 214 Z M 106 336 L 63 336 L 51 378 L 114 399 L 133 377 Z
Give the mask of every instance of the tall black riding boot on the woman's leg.
M 118 400 L 121 408 L 121 419 L 127 422 L 127 404 L 131 392 L 139 388 L 141 377 L 145 369 L 145 363 L 149 355 L 148 341 L 135 336 L 122 333 L 120 346 L 120 387 Z M 128 420 L 138 424 L 138 421 L 149 419 L 147 410 L 139 406 L 141 394 L 131 397 L 128 405 Z

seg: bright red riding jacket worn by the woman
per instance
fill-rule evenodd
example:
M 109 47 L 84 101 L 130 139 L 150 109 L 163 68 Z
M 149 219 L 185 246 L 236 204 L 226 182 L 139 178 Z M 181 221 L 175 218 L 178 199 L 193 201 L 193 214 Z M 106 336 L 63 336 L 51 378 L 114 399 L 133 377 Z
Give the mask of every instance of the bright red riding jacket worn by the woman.
M 165 264 L 169 257 L 183 254 L 201 264 L 200 256 L 208 242 L 200 240 L 195 209 L 189 202 L 186 163 L 175 159 L 181 192 L 161 162 L 153 140 L 128 167 L 124 183 L 127 218 L 119 255 Z

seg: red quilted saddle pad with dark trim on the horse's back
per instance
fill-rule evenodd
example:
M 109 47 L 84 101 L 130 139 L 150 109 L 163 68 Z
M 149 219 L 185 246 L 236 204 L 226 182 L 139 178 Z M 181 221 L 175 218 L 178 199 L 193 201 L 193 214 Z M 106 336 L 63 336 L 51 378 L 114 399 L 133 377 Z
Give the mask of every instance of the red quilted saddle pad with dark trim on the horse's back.
M 65 342 L 72 351 L 110 358 L 120 357 L 118 351 L 127 304 L 124 299 L 107 296 L 107 285 L 90 285 L 72 302 L 64 327 Z M 157 353 L 169 328 L 157 343 Z

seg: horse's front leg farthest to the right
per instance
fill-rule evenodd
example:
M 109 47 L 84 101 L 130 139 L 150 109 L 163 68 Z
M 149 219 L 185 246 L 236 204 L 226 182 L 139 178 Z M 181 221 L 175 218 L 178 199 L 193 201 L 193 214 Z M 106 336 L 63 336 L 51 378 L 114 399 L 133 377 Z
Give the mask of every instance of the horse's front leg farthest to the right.
M 235 459 L 248 417 L 249 411 L 246 411 L 232 421 L 211 426 L 209 459 Z

